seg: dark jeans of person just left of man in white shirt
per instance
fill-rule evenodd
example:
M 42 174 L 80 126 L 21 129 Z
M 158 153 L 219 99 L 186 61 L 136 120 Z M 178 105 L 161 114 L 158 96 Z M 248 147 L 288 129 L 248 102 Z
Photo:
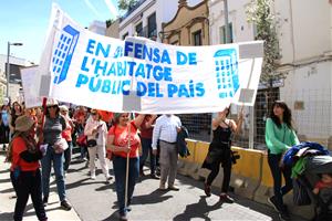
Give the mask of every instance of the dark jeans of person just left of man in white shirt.
M 156 156 L 153 155 L 152 149 L 152 139 L 149 138 L 141 138 L 142 141 L 142 157 L 139 157 L 139 169 L 143 170 L 143 166 L 147 159 L 147 156 L 149 155 L 149 169 L 151 173 L 155 175 L 156 172 Z

